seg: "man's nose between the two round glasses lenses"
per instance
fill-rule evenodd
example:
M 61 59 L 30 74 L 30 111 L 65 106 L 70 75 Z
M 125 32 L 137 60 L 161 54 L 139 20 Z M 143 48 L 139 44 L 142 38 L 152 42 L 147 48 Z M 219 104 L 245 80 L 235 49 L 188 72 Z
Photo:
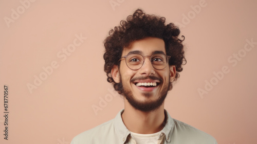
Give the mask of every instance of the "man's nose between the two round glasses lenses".
M 152 65 L 150 57 L 148 57 L 148 58 L 144 57 L 144 63 L 143 63 L 142 67 L 139 70 L 140 70 L 140 74 L 141 75 L 150 76 L 150 75 L 154 75 L 155 74 L 155 69 L 154 69 L 154 67 Z

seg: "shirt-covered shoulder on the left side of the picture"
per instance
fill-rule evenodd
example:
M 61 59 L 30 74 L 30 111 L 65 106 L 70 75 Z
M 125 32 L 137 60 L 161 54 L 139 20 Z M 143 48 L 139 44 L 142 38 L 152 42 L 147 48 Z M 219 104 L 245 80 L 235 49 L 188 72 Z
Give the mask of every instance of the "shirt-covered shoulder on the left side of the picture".
M 75 136 L 71 144 L 101 143 L 107 140 L 114 131 L 114 119 L 104 122 L 97 127 Z

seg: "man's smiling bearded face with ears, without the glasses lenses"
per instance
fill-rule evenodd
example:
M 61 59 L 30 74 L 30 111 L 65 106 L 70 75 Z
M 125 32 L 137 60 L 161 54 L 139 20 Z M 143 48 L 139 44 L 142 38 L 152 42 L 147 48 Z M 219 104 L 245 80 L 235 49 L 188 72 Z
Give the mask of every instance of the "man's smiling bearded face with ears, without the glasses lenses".
M 124 48 L 122 56 L 129 53 L 152 56 L 154 53 L 166 54 L 166 50 L 162 39 L 145 38 Z M 156 110 L 163 104 L 170 82 L 175 78 L 175 66 L 167 65 L 164 69 L 157 70 L 153 67 L 150 57 L 145 57 L 142 67 L 132 70 L 127 67 L 126 60 L 123 58 L 120 61 L 120 67 L 115 66 L 112 69 L 112 76 L 116 83 L 122 83 L 123 95 L 127 101 L 135 109 L 148 112 Z

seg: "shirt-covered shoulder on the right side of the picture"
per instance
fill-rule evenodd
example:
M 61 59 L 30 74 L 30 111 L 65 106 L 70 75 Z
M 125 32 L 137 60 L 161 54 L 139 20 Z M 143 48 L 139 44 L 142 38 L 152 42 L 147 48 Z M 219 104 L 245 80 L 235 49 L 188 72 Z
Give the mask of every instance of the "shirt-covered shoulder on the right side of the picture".
M 175 139 L 183 139 L 183 141 L 192 142 L 195 141 L 196 143 L 212 143 L 215 144 L 216 139 L 211 135 L 200 131 L 191 125 L 184 123 L 182 121 L 174 120 L 174 129 L 173 135 L 177 136 Z

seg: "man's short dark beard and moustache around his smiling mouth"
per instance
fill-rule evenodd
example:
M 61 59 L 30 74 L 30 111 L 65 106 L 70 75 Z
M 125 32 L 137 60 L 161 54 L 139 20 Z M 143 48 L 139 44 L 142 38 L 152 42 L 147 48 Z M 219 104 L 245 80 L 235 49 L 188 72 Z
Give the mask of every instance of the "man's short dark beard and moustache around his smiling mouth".
M 154 76 L 149 76 L 149 77 L 145 77 L 145 78 L 137 78 L 137 80 L 143 80 L 143 79 L 152 79 L 152 80 L 160 80 L 160 84 L 163 84 L 162 80 L 154 77 Z M 134 79 L 135 80 L 135 79 Z M 133 79 L 132 79 L 133 81 Z M 169 81 L 170 81 L 170 77 L 169 77 Z M 121 78 L 120 78 L 120 83 L 122 83 Z M 159 84 L 159 85 L 160 85 Z M 156 109 L 158 109 L 162 103 L 164 102 L 164 99 L 166 98 L 168 91 L 170 90 L 171 86 L 171 82 L 169 82 L 169 84 L 166 84 L 163 86 L 163 89 L 160 92 L 160 95 L 158 97 L 157 100 L 145 100 L 145 101 L 139 101 L 136 100 L 135 96 L 133 96 L 131 89 L 123 87 L 122 84 L 122 94 L 123 96 L 127 99 L 127 101 L 136 109 L 142 112 L 151 112 L 151 111 L 155 111 Z M 143 93 L 144 97 L 150 97 L 152 94 L 150 92 L 146 92 Z

